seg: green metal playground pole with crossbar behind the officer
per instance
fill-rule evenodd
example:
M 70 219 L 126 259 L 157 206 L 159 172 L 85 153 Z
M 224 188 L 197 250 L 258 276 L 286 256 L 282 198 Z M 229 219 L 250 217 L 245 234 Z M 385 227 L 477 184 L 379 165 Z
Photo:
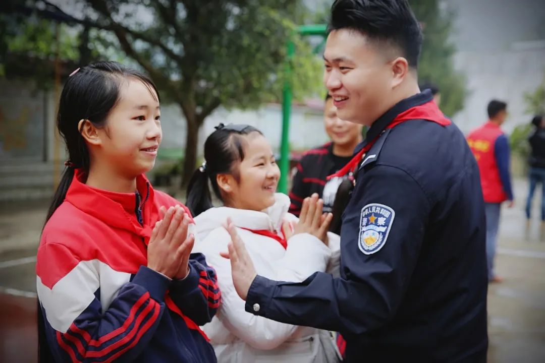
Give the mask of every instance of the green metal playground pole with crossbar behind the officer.
M 296 29 L 296 34 L 306 35 L 322 35 L 325 40 L 327 26 L 326 24 L 309 24 L 301 25 Z M 295 35 L 295 34 L 294 34 Z M 314 49 L 318 52 L 319 47 Z M 288 193 L 288 177 L 289 177 L 289 119 L 292 113 L 292 66 L 290 59 L 295 54 L 295 44 L 293 39 L 288 39 L 287 42 L 287 61 L 284 72 L 287 75 L 287 81 L 284 83 L 282 90 L 282 139 L 280 144 L 280 181 L 278 182 L 278 191 Z

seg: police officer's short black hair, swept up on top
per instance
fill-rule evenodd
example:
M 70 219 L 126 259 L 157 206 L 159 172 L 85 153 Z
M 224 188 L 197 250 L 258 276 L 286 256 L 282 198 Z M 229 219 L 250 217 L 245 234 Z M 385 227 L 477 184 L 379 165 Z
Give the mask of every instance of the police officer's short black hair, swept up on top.
M 328 32 L 351 29 L 397 47 L 410 67 L 418 66 L 422 29 L 407 0 L 335 0 Z

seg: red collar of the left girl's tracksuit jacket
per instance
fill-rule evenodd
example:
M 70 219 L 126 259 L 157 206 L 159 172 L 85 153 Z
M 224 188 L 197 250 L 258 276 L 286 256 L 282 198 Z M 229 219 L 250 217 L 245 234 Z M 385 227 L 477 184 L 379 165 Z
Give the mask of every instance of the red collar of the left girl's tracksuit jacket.
M 87 174 L 82 169 L 76 169 L 74 179 L 66 192 L 65 200 L 108 226 L 128 230 L 141 237 L 149 238 L 151 235 L 150 224 L 157 220 L 158 211 L 151 207 L 154 192 L 146 176 L 142 174 L 136 178 L 138 193 L 142 199 L 147 199 L 143 210 L 143 225 L 140 225 L 136 218 L 135 193 L 116 193 L 89 187 L 85 184 L 86 180 Z

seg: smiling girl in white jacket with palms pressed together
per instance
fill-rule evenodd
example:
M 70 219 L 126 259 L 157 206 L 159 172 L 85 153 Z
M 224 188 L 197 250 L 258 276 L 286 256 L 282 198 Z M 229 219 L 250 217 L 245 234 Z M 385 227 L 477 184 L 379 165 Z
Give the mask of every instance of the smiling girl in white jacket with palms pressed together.
M 275 193 L 280 170 L 255 127 L 220 124 L 205 141 L 204 158 L 186 204 L 197 216 L 195 250 L 215 268 L 222 291 L 217 316 L 203 327 L 218 361 L 338 361 L 329 332 L 247 313 L 233 286 L 231 264 L 220 256 L 231 241 L 223 225 L 229 218 L 260 275 L 303 281 L 316 271 L 334 270 L 339 238 L 327 233 L 331 215 L 322 215 L 323 201 L 317 195 L 307 198 L 300 220 L 288 213 L 288 196 Z M 210 189 L 223 206 L 213 206 Z

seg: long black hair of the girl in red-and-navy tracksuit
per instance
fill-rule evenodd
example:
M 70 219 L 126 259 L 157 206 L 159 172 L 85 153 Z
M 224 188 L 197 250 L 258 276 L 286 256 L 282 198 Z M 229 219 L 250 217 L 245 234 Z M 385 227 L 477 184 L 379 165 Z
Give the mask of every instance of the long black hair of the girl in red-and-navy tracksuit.
M 119 100 L 120 85 L 127 78 L 142 81 L 150 93 L 153 94 L 152 89 L 155 91 L 159 101 L 159 92 L 148 76 L 113 61 L 89 64 L 68 77 L 60 94 L 57 129 L 64 139 L 69 162 L 53 195 L 45 223 L 64 201 L 74 179 L 75 169 L 89 170 L 89 151 L 81 129 L 78 128 L 80 120 L 89 120 L 96 127 L 104 127 L 108 114 Z M 47 344 L 43 320 L 41 304 L 38 302 L 38 360 L 52 362 L 53 356 Z

